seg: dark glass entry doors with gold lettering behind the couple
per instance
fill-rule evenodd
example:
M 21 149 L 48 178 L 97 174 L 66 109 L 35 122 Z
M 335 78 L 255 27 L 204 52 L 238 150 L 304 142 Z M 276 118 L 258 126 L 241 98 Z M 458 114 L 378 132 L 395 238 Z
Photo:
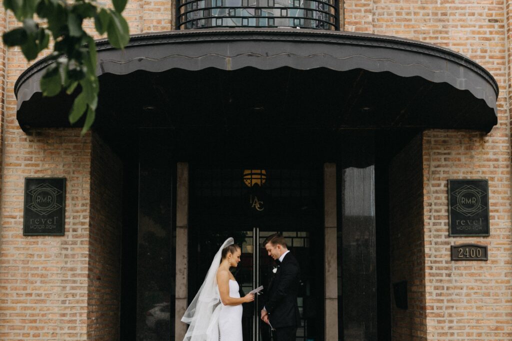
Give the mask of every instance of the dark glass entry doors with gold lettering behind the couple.
M 188 298 L 201 286 L 213 255 L 228 237 L 242 247 L 233 275 L 243 296 L 268 287 L 276 266 L 262 245 L 270 234 L 286 238 L 301 266 L 297 340 L 324 338 L 324 232 L 321 168 L 254 169 L 190 165 Z M 264 289 L 265 291 L 265 289 Z M 272 340 L 260 309 L 264 294 L 244 304 L 244 341 Z

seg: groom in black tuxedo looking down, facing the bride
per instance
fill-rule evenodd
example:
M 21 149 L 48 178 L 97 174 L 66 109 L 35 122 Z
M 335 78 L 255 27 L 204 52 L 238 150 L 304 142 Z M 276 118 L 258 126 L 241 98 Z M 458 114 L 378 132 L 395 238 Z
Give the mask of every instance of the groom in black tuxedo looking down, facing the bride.
M 297 307 L 301 269 L 280 234 L 268 236 L 263 245 L 268 255 L 278 263 L 278 268 L 270 281 L 261 319 L 275 329 L 275 341 L 294 341 L 297 327 L 301 324 Z

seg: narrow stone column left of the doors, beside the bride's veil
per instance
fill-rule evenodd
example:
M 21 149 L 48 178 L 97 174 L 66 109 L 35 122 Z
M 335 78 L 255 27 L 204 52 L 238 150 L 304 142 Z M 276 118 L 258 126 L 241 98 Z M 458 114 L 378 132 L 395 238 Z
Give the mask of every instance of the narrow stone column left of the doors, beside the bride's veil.
M 187 256 L 188 256 L 188 164 L 177 165 L 176 188 L 176 340 L 185 336 L 187 325 L 181 317 L 187 308 Z

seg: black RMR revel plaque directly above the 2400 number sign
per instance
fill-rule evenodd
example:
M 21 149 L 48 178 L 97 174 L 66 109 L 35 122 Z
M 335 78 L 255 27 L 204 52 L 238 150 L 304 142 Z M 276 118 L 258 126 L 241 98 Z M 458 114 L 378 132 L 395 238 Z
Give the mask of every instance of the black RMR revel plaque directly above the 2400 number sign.
M 486 179 L 448 180 L 450 236 L 489 235 Z

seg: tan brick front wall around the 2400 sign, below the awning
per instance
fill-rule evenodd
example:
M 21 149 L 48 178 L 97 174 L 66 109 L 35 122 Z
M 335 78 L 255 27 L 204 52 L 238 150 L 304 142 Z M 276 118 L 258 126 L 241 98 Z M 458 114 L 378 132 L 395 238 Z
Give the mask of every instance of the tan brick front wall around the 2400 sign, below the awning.
M 498 133 L 503 131 L 503 133 Z M 495 128 L 423 134 L 426 314 L 430 339 L 512 337 L 508 133 Z M 449 237 L 447 179 L 487 178 L 489 237 Z M 488 245 L 485 262 L 450 260 L 450 245 Z

